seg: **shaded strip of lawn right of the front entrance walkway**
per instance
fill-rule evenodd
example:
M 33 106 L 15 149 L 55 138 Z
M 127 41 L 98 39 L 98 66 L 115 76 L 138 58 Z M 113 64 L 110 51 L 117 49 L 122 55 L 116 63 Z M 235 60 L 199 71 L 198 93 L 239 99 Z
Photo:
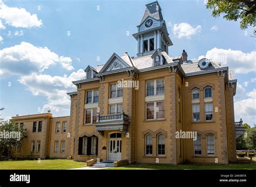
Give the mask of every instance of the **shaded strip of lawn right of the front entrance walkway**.
M 256 164 L 234 163 L 228 165 L 220 164 L 183 164 L 183 165 L 168 165 L 168 164 L 131 164 L 118 168 L 106 169 L 256 169 Z

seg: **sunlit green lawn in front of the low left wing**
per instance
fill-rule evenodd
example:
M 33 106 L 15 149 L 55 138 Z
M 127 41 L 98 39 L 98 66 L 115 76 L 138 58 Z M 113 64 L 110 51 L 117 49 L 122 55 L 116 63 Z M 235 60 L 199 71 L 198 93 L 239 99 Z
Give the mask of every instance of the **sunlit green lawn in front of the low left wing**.
M 0 161 L 1 169 L 72 169 L 86 167 L 84 162 L 76 162 L 68 159 L 56 160 L 23 160 L 23 161 Z

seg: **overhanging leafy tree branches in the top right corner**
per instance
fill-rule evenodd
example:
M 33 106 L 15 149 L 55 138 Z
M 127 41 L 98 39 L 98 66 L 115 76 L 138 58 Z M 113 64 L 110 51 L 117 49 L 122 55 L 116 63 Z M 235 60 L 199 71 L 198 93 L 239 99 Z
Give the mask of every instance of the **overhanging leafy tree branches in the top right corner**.
M 213 17 L 224 14 L 227 20 L 240 21 L 240 28 L 244 30 L 248 26 L 256 26 L 256 6 L 252 0 L 208 0 L 207 9 L 212 10 Z M 254 30 L 254 34 L 255 34 Z

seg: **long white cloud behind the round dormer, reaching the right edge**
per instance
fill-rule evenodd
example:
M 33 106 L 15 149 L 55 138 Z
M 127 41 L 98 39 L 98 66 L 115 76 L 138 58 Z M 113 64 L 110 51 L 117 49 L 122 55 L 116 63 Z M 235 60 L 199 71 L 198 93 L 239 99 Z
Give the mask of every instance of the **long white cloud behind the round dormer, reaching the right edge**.
M 221 66 L 228 66 L 229 70 L 235 70 L 235 73 L 246 74 L 256 71 L 256 51 L 243 53 L 232 49 L 212 48 L 205 56 L 221 63 Z

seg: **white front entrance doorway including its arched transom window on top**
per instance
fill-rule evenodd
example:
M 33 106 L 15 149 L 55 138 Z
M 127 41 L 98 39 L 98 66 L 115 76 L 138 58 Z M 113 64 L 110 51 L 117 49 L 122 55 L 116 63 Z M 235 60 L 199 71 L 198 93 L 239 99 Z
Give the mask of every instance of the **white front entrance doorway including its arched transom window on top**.
M 118 132 L 109 133 L 108 160 L 109 161 L 121 160 L 121 152 L 122 152 L 122 133 L 118 133 Z

